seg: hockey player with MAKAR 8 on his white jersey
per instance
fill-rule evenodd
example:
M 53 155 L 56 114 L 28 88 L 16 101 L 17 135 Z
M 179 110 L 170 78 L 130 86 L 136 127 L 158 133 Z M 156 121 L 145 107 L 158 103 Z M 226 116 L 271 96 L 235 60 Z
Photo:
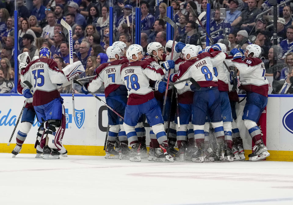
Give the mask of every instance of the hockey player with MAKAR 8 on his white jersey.
M 175 49 L 177 45 L 175 46 Z M 225 154 L 224 147 L 224 129 L 222 122 L 222 113 L 220 107 L 220 96 L 217 84 L 217 78 L 212 72 L 213 67 L 223 63 L 226 55 L 221 51 L 215 51 L 210 48 L 208 52 L 198 54 L 195 45 L 186 45 L 182 49 L 182 57 L 186 60 L 179 66 L 178 74 L 171 75 L 171 81 L 184 80 L 189 77 L 194 78 L 201 86 L 200 90 L 190 87 L 194 92 L 192 104 L 192 124 L 194 125 L 194 138 L 197 145 L 197 152 L 192 156 L 192 161 L 203 162 L 203 146 L 204 146 L 204 124 L 206 117 L 209 115 L 212 126 L 215 129 L 215 136 L 219 143 L 219 153 Z M 186 82 L 175 85 L 177 89 L 184 88 Z

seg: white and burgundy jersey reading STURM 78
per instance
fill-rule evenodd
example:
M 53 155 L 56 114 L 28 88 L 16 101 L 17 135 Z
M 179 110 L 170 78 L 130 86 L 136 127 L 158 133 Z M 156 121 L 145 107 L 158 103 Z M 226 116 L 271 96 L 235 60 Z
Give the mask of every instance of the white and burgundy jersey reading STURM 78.
M 150 79 L 161 80 L 166 70 L 154 68 L 146 60 L 125 63 L 121 66 L 121 79 L 128 89 L 128 105 L 140 105 L 154 98 Z

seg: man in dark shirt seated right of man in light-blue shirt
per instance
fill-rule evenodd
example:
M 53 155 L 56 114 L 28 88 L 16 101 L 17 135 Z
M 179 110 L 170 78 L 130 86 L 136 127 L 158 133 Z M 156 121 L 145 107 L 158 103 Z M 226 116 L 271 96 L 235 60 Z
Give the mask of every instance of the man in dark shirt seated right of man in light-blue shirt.
M 231 23 L 231 26 L 241 28 L 250 32 L 254 26 L 256 16 L 261 13 L 261 10 L 256 7 L 256 0 L 248 0 L 248 9 L 244 9 L 240 16 Z

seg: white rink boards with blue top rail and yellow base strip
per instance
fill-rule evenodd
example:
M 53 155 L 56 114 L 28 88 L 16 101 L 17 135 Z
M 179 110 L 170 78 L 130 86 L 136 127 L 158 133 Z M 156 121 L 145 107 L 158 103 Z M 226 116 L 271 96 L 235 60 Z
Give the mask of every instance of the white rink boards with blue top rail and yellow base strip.
M 98 95 L 105 100 L 104 95 Z M 62 94 L 66 109 L 66 131 L 63 144 L 72 155 L 105 154 L 103 150 L 108 118 L 107 108 L 92 95 L 75 95 L 75 117 L 73 117 L 72 98 L 70 94 Z M 244 95 L 240 95 L 242 99 Z M 16 132 L 10 146 L 7 146 L 13 128 L 16 124 L 24 97 L 17 94 L 0 94 L 0 152 L 10 153 L 16 143 Z M 266 145 L 270 156 L 267 160 L 293 161 L 293 95 L 269 95 L 268 105 L 263 114 L 266 114 Z M 245 154 L 251 153 L 251 137 L 241 120 L 245 100 L 237 104 L 237 126 L 243 138 Z M 35 119 L 31 131 L 21 153 L 35 153 L 34 142 L 38 130 Z M 262 125 L 262 129 L 264 129 Z M 149 143 L 147 129 L 147 144 Z

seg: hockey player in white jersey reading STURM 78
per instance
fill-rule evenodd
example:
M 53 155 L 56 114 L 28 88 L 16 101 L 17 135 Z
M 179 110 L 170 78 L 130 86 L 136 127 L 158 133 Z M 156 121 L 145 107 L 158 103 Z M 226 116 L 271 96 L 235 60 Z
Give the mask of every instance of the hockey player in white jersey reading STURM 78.
M 126 51 L 126 56 L 130 63 L 125 63 L 121 67 L 121 79 L 124 81 L 128 89 L 128 101 L 125 108 L 124 124 L 128 142 L 132 147 L 129 157 L 130 161 L 140 161 L 140 144 L 135 132 L 135 126 L 142 114 L 145 114 L 147 121 L 157 136 L 160 148 L 163 150 L 166 159 L 174 161 L 169 154 L 168 141 L 164 129 L 164 121 L 161 109 L 154 98 L 154 92 L 150 88 L 149 80 L 160 81 L 166 70 L 170 69 L 168 62 L 163 63 L 163 68 L 154 68 L 147 61 L 141 61 L 143 58 L 139 48 L 132 47 Z M 171 67 L 172 68 L 172 67 Z M 157 86 L 166 87 L 164 82 L 157 83 Z M 160 88 L 161 89 L 161 88 Z

